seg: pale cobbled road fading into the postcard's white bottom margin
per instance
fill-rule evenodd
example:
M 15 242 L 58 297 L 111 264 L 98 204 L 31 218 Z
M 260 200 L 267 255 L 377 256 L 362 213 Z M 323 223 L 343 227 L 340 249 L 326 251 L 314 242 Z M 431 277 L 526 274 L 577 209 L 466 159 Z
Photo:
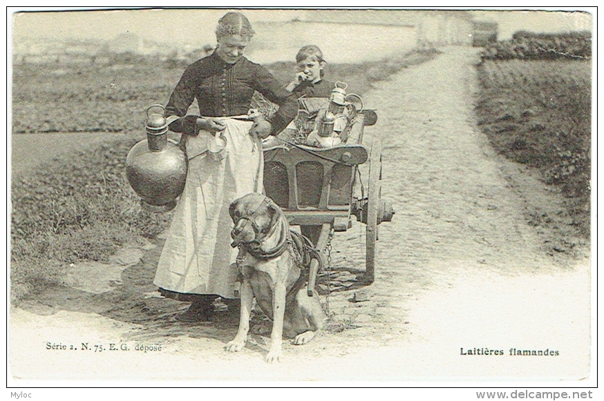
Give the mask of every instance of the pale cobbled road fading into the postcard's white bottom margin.
M 334 324 L 308 345 L 286 344 L 279 366 L 263 362 L 268 340 L 262 335 L 252 335 L 240 353 L 222 350 L 234 336 L 236 315 L 225 313 L 211 324 L 192 326 L 173 319 L 187 305 L 155 297 L 150 284 L 160 241 L 147 244 L 144 253 L 138 250 L 140 262 L 137 257 L 118 260 L 122 268 L 105 269 L 111 283 L 105 292 L 76 283 L 12 309 L 13 375 L 402 381 L 587 377 L 587 253 L 579 258 L 548 255 L 544 244 L 551 233 L 527 224 L 535 210 L 559 210 L 560 198 L 521 166 L 495 155 L 475 126 L 475 61 L 473 48 L 446 48 L 433 61 L 402 70 L 365 95 L 365 104 L 379 115 L 366 135 L 379 137 L 384 148 L 382 197 L 393 201 L 396 211 L 393 222 L 379 228 L 375 283 L 353 284 L 323 297 Z M 361 273 L 364 225 L 337 233 L 332 249 L 333 271 Z M 361 289 L 369 300 L 351 302 Z M 46 351 L 46 342 L 78 348 L 82 342 L 106 348 L 115 343 L 130 351 Z M 162 349 L 135 351 L 141 344 Z M 483 352 L 469 354 L 473 349 Z M 493 351 L 482 355 L 484 349 Z M 510 355 L 511 349 L 547 350 L 548 356 Z M 556 354 L 549 356 L 552 351 Z M 41 357 L 48 363 L 52 358 L 53 369 L 40 364 Z

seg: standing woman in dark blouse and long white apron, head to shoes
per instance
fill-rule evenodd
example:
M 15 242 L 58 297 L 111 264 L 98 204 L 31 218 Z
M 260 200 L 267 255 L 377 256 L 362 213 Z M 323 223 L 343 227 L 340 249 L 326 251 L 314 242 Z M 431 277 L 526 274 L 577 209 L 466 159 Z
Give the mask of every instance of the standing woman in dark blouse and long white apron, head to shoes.
M 192 302 L 179 320 L 209 320 L 216 297 L 236 297 L 238 250 L 230 246 L 229 204 L 262 192 L 261 139 L 279 133 L 298 110 L 270 72 L 243 57 L 253 35 L 243 14 L 225 14 L 216 28 L 216 50 L 185 70 L 166 106 L 167 115 L 181 117 L 170 129 L 186 135 L 189 171 L 153 284 L 163 295 Z M 270 120 L 246 118 L 254 90 L 279 104 Z M 194 99 L 200 116 L 185 117 Z M 214 135 L 226 139 L 221 160 L 205 152 Z

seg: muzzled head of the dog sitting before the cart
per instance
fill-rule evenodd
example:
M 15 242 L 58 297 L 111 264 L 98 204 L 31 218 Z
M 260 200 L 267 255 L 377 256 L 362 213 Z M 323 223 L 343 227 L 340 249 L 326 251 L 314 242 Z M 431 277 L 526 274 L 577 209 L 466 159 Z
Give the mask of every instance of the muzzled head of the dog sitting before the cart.
M 275 225 L 279 213 L 279 206 L 261 193 L 249 193 L 235 199 L 229 206 L 229 214 L 235 224 L 231 231 L 231 246 L 251 243 L 263 237 Z

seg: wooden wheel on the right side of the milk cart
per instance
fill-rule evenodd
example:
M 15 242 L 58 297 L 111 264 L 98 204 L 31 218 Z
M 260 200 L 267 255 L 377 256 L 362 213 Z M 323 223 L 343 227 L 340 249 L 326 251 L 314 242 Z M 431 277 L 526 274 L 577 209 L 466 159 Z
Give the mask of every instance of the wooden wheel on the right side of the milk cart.
M 367 200 L 367 226 L 365 248 L 365 281 L 371 284 L 375 274 L 375 242 L 377 240 L 377 208 L 381 194 L 381 144 L 375 140 L 369 153 L 369 181 Z

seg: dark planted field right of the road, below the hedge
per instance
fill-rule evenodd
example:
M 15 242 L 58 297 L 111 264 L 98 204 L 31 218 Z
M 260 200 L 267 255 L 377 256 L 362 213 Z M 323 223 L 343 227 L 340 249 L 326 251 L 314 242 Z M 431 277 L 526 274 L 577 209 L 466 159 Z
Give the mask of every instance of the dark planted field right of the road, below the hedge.
M 560 186 L 576 226 L 589 236 L 591 62 L 483 61 L 478 70 L 476 110 L 491 144 Z

